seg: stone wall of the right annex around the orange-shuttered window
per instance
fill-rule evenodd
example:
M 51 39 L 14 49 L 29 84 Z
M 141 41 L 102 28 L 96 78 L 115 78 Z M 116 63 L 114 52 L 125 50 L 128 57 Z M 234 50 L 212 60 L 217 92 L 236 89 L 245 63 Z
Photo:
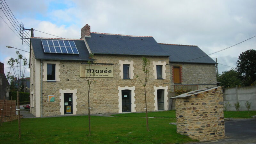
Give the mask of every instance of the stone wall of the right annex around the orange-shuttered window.
M 196 84 L 198 89 L 215 87 L 217 83 L 214 64 L 170 63 L 171 88 L 174 91 L 173 67 L 181 67 L 181 84 Z M 205 85 L 207 84 L 207 85 Z M 212 84 L 212 85 L 208 85 Z

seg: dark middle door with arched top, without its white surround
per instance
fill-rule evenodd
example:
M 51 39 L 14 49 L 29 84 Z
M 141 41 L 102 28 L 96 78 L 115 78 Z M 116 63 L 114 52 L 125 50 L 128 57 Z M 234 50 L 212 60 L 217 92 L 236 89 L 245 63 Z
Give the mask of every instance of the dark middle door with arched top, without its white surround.
M 122 112 L 131 112 L 131 91 L 122 90 Z

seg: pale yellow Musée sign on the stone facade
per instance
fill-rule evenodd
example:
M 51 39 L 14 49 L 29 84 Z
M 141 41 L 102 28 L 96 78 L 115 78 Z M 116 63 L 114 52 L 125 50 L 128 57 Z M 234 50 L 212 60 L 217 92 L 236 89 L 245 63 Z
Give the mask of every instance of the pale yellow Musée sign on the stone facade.
M 114 77 L 113 66 L 96 66 L 89 65 L 80 66 L 80 77 Z

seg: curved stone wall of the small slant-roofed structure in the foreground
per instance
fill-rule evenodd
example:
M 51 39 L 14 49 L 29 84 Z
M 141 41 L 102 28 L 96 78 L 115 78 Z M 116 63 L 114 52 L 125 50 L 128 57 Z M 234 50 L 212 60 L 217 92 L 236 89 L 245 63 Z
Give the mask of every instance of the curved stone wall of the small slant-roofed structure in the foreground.
M 222 88 L 176 99 L 177 132 L 190 138 L 216 140 L 225 136 Z

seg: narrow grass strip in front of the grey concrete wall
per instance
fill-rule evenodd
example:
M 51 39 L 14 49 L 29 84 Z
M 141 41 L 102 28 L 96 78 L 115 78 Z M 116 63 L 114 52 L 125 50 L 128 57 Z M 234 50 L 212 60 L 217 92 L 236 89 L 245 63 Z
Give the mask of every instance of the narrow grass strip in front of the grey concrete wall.
M 224 111 L 224 117 L 233 117 L 233 118 L 252 118 L 255 116 L 256 111 Z

